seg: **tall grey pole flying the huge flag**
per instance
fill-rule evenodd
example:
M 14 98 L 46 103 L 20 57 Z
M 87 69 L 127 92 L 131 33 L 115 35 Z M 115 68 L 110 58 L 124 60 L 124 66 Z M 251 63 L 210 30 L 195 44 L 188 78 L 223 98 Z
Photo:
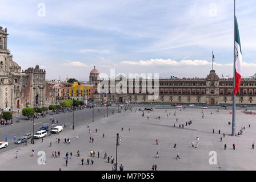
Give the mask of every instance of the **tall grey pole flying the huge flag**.
M 232 112 L 232 136 L 235 136 L 235 0 L 234 0 L 234 76 L 233 76 L 233 112 Z

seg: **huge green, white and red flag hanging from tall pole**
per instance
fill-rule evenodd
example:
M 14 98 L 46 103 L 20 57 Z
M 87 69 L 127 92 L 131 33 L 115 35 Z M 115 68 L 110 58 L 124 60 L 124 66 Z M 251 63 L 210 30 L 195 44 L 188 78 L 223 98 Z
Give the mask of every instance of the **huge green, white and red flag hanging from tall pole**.
M 242 51 L 239 37 L 239 30 L 237 24 L 237 17 L 235 16 L 235 90 L 234 95 L 239 91 L 239 86 L 241 84 L 242 77 Z

